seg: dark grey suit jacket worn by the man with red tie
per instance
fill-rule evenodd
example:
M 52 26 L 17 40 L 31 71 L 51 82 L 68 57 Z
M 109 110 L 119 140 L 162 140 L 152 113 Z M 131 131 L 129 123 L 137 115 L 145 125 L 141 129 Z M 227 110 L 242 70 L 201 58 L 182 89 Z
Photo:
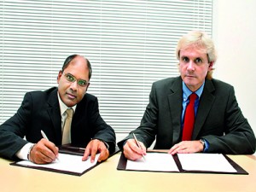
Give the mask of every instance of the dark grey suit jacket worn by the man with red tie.
M 156 137 L 154 148 L 169 149 L 181 142 L 182 79 L 163 79 L 152 85 L 149 104 L 141 125 L 135 131 L 137 139 L 148 148 Z M 119 142 L 124 142 L 131 134 Z M 255 136 L 236 102 L 234 88 L 216 79 L 207 80 L 195 118 L 192 140 L 204 138 L 208 153 L 253 154 Z

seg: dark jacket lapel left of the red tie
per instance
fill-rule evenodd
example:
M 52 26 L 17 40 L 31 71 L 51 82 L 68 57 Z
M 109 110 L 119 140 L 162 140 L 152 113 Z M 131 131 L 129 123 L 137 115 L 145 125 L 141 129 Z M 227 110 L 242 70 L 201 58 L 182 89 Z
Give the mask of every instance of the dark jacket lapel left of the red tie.
M 181 135 L 181 113 L 182 113 L 182 80 L 177 79 L 171 86 L 172 94 L 168 95 L 169 108 L 172 119 L 172 143 L 177 143 Z

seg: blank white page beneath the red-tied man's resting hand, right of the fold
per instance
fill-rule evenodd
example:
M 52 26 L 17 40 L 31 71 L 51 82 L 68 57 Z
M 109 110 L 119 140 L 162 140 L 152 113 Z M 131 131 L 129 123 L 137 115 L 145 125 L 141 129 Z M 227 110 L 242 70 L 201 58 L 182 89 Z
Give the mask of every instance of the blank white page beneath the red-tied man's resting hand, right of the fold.
M 223 154 L 177 154 L 183 170 L 206 172 L 236 172 Z

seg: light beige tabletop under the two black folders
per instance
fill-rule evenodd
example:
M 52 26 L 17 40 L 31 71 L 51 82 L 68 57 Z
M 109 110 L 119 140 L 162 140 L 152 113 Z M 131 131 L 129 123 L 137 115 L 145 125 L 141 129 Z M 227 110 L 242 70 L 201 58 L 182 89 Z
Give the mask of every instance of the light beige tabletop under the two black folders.
M 228 155 L 249 175 L 118 171 L 120 153 L 83 176 L 9 166 L 0 158 L 1 192 L 256 191 L 256 156 Z

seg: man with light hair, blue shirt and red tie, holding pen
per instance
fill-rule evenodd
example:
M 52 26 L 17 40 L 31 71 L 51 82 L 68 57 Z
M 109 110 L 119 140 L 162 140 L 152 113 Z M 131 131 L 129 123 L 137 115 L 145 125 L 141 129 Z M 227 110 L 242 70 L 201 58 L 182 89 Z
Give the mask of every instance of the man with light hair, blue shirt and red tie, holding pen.
M 180 76 L 152 85 L 141 125 L 118 143 L 125 157 L 142 158 L 154 139 L 154 148 L 169 149 L 170 154 L 253 154 L 255 136 L 238 107 L 234 88 L 212 79 L 216 61 L 212 39 L 203 32 L 189 32 L 177 44 L 177 60 Z M 189 139 L 183 139 L 186 108 L 192 93 L 196 94 L 195 124 Z

